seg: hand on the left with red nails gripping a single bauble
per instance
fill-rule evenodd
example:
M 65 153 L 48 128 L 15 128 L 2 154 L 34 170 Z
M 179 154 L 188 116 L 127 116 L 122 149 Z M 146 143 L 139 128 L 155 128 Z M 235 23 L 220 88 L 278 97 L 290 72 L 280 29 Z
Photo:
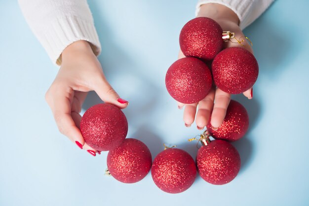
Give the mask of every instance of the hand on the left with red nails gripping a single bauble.
M 87 41 L 75 41 L 64 49 L 61 68 L 45 99 L 53 113 L 59 131 L 81 149 L 93 156 L 98 152 L 85 143 L 79 124 L 80 111 L 87 92 L 94 90 L 98 96 L 120 109 L 128 106 L 107 82 L 102 67 Z

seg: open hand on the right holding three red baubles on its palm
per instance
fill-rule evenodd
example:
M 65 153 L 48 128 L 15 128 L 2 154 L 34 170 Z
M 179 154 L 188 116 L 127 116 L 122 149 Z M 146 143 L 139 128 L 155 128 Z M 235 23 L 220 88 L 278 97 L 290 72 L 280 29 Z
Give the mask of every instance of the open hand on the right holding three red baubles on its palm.
M 197 17 L 208 17 L 215 20 L 223 29 L 223 31 L 232 31 L 235 37 L 240 39 L 244 37 L 241 29 L 238 26 L 239 19 L 237 15 L 228 7 L 218 3 L 206 3 L 201 5 Z M 242 47 L 253 53 L 252 47 L 248 42 L 244 41 L 242 44 L 233 43 L 231 41 L 225 42 L 225 48 L 228 47 Z M 178 58 L 184 58 L 185 55 L 180 51 Z M 253 88 L 249 88 L 243 92 L 243 95 L 248 99 L 253 97 Z M 223 123 L 227 113 L 227 108 L 230 104 L 231 94 L 222 91 L 219 88 L 213 87 L 209 94 L 201 101 L 193 104 L 183 104 L 178 102 L 178 108 L 185 106 L 184 122 L 187 127 L 193 124 L 194 120 L 197 129 L 202 130 L 210 121 L 212 128 L 217 130 Z M 198 108 L 197 108 L 198 106 Z M 196 114 L 196 115 L 195 115 Z

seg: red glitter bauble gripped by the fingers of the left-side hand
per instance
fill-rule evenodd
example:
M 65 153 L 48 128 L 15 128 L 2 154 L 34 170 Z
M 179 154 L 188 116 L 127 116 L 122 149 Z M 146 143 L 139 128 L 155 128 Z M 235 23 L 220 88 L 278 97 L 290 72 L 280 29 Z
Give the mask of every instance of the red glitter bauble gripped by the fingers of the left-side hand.
M 123 142 L 128 131 L 128 122 L 123 112 L 115 105 L 97 104 L 82 116 L 80 131 L 90 147 L 108 151 Z

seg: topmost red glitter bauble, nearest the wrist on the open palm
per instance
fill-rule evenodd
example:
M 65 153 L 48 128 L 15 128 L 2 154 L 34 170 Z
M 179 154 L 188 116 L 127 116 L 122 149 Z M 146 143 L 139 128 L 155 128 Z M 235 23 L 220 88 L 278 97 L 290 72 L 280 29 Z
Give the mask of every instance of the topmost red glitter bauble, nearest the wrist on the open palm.
M 197 17 L 182 28 L 180 48 L 185 56 L 212 60 L 223 49 L 222 33 L 222 28 L 216 21 Z

